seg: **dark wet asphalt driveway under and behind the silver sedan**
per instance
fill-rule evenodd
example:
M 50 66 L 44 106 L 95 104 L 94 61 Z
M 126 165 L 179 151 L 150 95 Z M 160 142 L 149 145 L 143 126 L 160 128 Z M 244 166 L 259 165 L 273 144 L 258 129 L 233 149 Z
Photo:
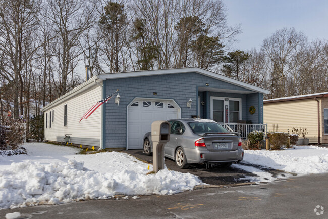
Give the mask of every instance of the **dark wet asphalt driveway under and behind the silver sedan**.
M 147 156 L 143 152 L 143 150 L 124 150 L 122 152 L 128 153 L 136 158 L 139 158 L 141 160 L 144 160 L 148 163 L 152 163 L 152 156 Z M 250 166 L 249 164 L 243 164 L 242 165 Z M 233 186 L 236 184 L 242 184 L 242 183 L 251 183 L 248 180 L 244 179 L 248 176 L 256 176 L 253 173 L 247 172 L 245 170 L 234 168 L 232 166 L 229 167 L 220 167 L 220 166 L 212 166 L 209 168 L 206 168 L 206 165 L 190 165 L 187 169 L 180 169 L 176 166 L 176 163 L 174 160 L 171 160 L 169 158 L 165 158 L 165 165 L 168 167 L 168 169 L 184 172 L 184 173 L 191 173 L 196 176 L 198 176 L 204 183 L 210 184 L 210 185 L 226 185 L 226 186 Z M 270 169 L 267 167 L 261 167 L 257 165 L 251 165 L 253 167 L 256 167 L 258 169 L 270 172 L 272 176 L 277 176 L 278 174 L 282 174 L 281 171 Z M 284 174 L 284 173 L 283 173 Z M 287 173 L 286 173 L 287 174 Z M 279 179 L 277 179 L 279 180 Z

